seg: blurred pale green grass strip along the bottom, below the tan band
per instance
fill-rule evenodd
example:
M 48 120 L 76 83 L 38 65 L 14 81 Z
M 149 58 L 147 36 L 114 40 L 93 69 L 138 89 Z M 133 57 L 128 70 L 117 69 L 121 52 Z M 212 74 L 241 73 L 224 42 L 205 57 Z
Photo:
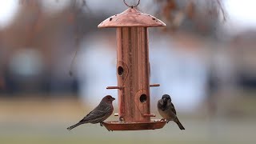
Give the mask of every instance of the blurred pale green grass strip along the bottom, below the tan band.
M 251 144 L 255 143 L 254 121 L 216 121 L 183 122 L 186 130 L 179 130 L 174 123 L 169 123 L 161 130 L 113 131 L 109 132 L 98 125 L 83 125 L 72 131 L 66 130 L 66 124 L 24 124 L 11 125 L 1 123 L 1 144 Z M 9 126 L 8 126 L 9 125 Z

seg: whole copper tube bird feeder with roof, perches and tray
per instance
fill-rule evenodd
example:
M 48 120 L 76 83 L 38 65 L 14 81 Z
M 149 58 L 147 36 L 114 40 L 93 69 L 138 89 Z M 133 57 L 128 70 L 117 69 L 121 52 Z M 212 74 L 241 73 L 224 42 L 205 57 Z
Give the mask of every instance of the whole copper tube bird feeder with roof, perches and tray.
M 125 2 L 125 1 L 124 1 Z M 150 14 L 143 14 L 136 6 L 129 6 L 121 14 L 107 18 L 98 28 L 116 28 L 117 34 L 117 79 L 118 121 L 103 122 L 107 130 L 154 130 L 166 122 L 153 120 L 150 113 L 150 62 L 148 27 L 166 24 Z

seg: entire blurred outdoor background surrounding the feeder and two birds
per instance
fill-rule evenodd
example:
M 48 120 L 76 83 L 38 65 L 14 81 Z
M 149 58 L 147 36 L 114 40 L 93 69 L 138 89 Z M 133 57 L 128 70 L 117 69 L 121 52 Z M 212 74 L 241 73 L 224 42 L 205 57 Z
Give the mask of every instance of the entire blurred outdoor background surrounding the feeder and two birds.
M 255 5 L 141 0 L 167 25 L 150 28 L 150 82 L 161 84 L 150 89 L 152 113 L 161 118 L 156 102 L 170 94 L 186 130 L 109 132 L 66 127 L 106 94 L 117 98 L 106 90 L 117 84 L 115 30 L 97 26 L 127 9 L 122 0 L 0 1 L 0 143 L 256 142 Z

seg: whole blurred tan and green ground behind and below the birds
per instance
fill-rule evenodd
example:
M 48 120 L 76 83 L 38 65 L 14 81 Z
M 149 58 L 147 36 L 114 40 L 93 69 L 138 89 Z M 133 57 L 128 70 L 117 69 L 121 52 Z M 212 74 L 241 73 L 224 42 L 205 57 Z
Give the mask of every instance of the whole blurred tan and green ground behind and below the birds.
M 66 130 L 90 110 L 74 100 L 1 99 L 0 144 L 254 144 L 255 102 L 255 98 L 242 97 L 221 106 L 210 121 L 203 109 L 192 115 L 180 114 L 186 130 L 170 122 L 160 130 L 109 132 L 92 124 Z

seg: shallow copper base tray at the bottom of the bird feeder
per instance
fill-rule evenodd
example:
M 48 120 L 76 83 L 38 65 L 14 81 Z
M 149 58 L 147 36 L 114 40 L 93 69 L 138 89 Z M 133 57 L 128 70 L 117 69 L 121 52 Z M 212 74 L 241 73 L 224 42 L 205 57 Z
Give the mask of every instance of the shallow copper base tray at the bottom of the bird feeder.
M 106 127 L 107 130 L 155 130 L 162 129 L 166 125 L 166 121 L 161 120 L 151 120 L 151 122 L 102 122 L 102 125 Z

